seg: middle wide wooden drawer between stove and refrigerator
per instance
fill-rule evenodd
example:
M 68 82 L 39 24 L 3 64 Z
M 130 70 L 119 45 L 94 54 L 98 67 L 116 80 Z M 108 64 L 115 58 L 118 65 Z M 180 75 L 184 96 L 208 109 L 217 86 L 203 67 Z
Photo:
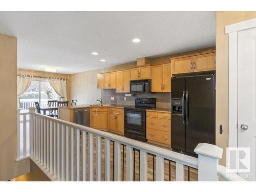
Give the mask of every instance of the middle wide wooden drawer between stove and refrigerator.
M 170 120 L 154 117 L 146 118 L 146 127 L 154 130 L 170 132 Z

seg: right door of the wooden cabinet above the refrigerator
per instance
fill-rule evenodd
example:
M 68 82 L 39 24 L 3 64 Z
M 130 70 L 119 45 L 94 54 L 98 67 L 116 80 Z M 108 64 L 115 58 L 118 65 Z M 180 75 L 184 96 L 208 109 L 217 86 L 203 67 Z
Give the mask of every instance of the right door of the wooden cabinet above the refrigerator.
M 194 56 L 194 72 L 215 70 L 215 53 Z

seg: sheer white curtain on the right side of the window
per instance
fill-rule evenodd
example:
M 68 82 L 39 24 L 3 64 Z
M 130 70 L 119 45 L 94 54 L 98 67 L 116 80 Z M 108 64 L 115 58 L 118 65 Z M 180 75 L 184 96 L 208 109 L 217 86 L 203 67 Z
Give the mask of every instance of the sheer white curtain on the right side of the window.
M 66 79 L 48 79 L 50 85 L 54 89 L 54 91 L 60 96 L 63 97 L 65 101 L 67 101 L 67 80 Z

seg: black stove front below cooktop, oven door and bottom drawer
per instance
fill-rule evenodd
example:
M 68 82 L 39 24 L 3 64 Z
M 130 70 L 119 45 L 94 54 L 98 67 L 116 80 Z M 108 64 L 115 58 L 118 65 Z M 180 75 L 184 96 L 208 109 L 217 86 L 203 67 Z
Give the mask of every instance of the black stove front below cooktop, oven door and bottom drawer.
M 124 136 L 146 141 L 145 111 L 124 110 Z

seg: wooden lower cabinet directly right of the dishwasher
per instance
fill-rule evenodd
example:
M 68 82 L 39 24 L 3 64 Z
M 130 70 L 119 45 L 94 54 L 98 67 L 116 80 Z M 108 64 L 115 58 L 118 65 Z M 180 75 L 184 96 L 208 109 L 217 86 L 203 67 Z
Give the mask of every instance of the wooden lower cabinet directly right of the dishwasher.
M 91 109 L 91 127 L 98 130 L 108 128 L 108 112 L 107 108 L 92 108 Z

